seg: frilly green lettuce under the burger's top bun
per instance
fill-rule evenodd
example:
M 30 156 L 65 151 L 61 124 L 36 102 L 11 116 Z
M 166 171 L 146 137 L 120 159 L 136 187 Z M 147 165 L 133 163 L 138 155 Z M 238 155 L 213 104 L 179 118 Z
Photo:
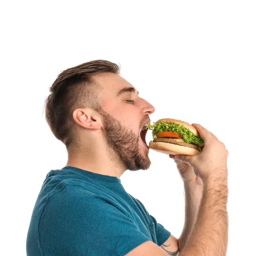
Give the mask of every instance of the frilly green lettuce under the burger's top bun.
M 166 123 L 166 122 L 158 122 L 153 125 L 147 125 L 149 130 L 152 130 L 153 139 L 156 139 L 156 134 L 161 131 L 173 131 L 175 133 L 180 133 L 180 137 L 185 140 L 186 143 L 195 143 L 195 144 L 204 144 L 204 140 L 202 138 L 198 138 L 195 134 L 192 133 L 188 128 L 183 125 L 176 123 Z

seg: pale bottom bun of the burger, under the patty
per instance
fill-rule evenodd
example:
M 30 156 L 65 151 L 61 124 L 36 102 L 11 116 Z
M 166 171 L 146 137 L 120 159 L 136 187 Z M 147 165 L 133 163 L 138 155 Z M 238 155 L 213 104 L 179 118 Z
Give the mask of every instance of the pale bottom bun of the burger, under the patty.
M 166 143 L 166 142 L 150 142 L 149 143 L 149 148 L 164 153 L 164 154 L 185 154 L 189 156 L 195 156 L 198 154 L 201 154 L 200 151 L 198 151 L 195 148 L 189 148 L 186 146 L 180 146 L 180 145 L 175 145 L 172 143 Z

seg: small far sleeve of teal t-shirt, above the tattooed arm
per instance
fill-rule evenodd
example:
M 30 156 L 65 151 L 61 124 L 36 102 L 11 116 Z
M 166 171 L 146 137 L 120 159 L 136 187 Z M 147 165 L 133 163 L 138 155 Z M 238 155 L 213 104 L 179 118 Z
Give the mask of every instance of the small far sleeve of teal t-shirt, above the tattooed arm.
M 151 236 L 153 238 L 154 238 L 154 236 L 156 237 L 156 240 L 157 240 L 156 244 L 158 246 L 162 245 L 169 238 L 169 236 L 171 236 L 171 232 L 169 230 L 165 229 L 163 227 L 163 225 L 158 223 L 157 220 L 152 215 L 150 215 L 148 213 L 145 206 L 143 205 L 143 203 L 140 200 L 138 200 L 138 199 L 136 199 L 136 200 L 140 203 L 141 207 L 143 208 L 143 210 L 149 217 L 150 224 L 148 226 L 149 226 L 149 229 L 151 232 Z

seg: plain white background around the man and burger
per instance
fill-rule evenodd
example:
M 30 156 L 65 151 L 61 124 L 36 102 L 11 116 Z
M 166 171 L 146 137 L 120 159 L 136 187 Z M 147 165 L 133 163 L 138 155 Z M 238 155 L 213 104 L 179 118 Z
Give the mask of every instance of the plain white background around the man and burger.
M 154 105 L 150 118 L 199 123 L 224 142 L 228 256 L 251 255 L 256 230 L 255 1 L 8 1 L 1 7 L 1 255 L 26 255 L 41 185 L 67 163 L 43 113 L 69 67 L 105 59 Z M 254 90 L 254 93 L 253 93 Z M 151 140 L 151 132 L 146 136 Z M 166 154 L 122 184 L 177 238 L 183 182 Z

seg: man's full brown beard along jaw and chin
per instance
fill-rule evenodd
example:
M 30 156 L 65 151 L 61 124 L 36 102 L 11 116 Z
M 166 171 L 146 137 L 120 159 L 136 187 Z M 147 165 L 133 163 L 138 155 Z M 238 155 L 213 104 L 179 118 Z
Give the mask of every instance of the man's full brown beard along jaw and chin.
M 151 160 L 148 158 L 148 151 L 145 153 L 140 145 L 140 134 L 135 134 L 123 126 L 120 121 L 114 119 L 102 108 L 97 111 L 104 119 L 105 140 L 112 151 L 111 158 L 116 162 L 116 157 L 118 157 L 125 170 L 147 170 L 151 165 Z

